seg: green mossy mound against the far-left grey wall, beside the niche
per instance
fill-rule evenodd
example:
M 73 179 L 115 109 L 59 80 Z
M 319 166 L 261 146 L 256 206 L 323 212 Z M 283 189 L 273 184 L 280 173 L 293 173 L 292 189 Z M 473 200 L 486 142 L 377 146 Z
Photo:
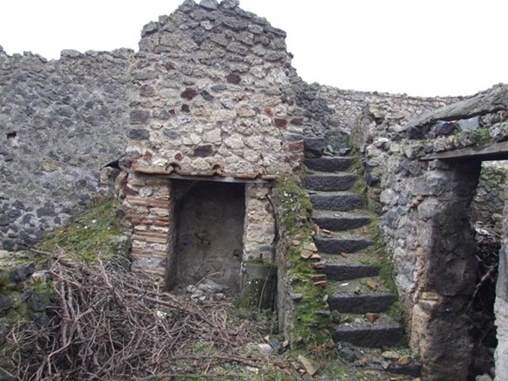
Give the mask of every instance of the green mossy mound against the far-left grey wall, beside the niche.
M 39 248 L 53 251 L 60 247 L 71 259 L 83 262 L 95 260 L 98 253 L 110 257 L 115 255 L 111 238 L 121 235 L 116 200 L 100 200 L 79 214 L 65 228 L 48 234 Z

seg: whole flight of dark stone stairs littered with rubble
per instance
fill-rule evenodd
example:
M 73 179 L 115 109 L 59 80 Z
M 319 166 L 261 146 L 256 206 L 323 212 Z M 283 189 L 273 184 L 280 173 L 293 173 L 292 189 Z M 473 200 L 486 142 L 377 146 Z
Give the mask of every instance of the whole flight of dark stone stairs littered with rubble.
M 348 343 L 386 351 L 404 345 L 404 328 L 387 313 L 396 296 L 379 278 L 379 258 L 369 251 L 374 243 L 372 214 L 366 210 L 364 197 L 354 192 L 358 175 L 348 172 L 352 163 L 351 156 L 320 155 L 306 149 L 305 187 L 314 224 L 319 227 L 314 243 L 321 261 L 316 268 L 326 275 L 334 340 L 339 346 Z M 397 363 L 384 368 L 418 373 L 415 365 L 412 370 Z

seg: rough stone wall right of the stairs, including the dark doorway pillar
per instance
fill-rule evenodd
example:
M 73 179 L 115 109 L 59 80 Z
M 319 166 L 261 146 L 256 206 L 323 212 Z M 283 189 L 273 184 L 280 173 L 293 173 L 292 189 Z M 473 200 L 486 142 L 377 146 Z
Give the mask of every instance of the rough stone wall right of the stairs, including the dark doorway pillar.
M 505 86 L 495 86 L 434 112 L 415 113 L 420 115 L 413 119 L 408 118 L 410 108 L 403 106 L 401 114 L 401 105 L 393 99 L 370 100 L 354 132 L 369 206 L 382 215 L 387 251 L 409 311 L 411 346 L 429 379 L 467 376 L 471 338 L 466 310 L 477 265 L 471 251 L 470 203 L 480 160 L 420 159 L 432 152 L 505 140 L 507 93 Z M 478 201 L 490 196 L 497 200 L 483 192 L 489 181 L 484 170 Z M 477 212 L 482 214 L 482 208 Z

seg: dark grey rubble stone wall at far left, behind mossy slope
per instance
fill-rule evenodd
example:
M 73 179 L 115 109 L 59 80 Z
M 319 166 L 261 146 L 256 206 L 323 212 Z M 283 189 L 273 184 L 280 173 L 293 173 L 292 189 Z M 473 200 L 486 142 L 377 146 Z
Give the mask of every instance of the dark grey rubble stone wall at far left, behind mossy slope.
M 47 61 L 0 47 L 0 242 L 32 245 L 99 189 L 125 150 L 133 52 L 62 51 Z

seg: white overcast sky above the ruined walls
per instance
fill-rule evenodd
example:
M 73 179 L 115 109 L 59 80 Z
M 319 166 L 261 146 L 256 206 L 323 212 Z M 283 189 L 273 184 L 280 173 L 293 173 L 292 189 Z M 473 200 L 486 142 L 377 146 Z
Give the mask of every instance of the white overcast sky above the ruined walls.
M 5 0 L 0 45 L 137 50 L 144 24 L 183 0 Z M 197 0 L 199 2 L 199 0 Z M 468 95 L 508 82 L 507 0 L 241 0 L 288 33 L 307 82 L 414 96 Z

